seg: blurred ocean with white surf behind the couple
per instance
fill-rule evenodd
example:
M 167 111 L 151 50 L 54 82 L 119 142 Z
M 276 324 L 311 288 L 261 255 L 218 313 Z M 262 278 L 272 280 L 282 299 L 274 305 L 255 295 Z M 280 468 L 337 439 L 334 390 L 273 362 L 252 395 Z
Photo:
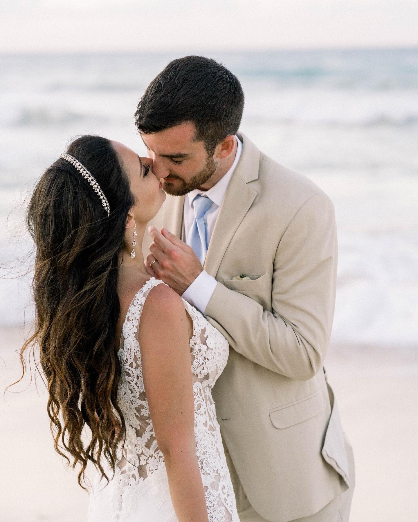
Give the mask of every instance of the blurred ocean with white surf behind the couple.
M 242 131 L 334 202 L 331 342 L 418 346 L 418 49 L 211 56 L 242 83 Z M 21 202 L 42 170 L 86 133 L 145 155 L 133 113 L 173 57 L 0 55 L 0 265 L 14 268 L 8 278 L 30 269 Z M 32 317 L 29 281 L 0 279 L 0 326 Z

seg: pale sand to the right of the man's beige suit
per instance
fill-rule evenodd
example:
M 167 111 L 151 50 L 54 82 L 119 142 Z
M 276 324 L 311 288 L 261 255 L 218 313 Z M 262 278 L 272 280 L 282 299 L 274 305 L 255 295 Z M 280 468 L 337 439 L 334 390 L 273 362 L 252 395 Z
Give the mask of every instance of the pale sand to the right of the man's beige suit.
M 418 346 L 332 347 L 324 365 L 354 450 L 351 522 L 418 520 Z

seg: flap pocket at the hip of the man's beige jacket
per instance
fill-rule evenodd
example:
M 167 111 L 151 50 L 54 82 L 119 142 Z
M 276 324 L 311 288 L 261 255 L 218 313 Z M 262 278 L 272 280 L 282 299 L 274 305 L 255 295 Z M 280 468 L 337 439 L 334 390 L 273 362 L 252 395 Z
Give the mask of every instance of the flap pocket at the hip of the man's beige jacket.
M 315 417 L 326 407 L 321 390 L 317 390 L 303 399 L 273 408 L 269 414 L 273 426 L 283 429 Z

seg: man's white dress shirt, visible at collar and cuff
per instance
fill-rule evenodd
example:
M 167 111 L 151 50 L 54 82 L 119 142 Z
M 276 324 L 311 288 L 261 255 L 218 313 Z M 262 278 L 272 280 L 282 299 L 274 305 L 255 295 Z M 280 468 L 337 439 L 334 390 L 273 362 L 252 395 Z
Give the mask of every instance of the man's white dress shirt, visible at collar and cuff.
M 220 205 L 224 200 L 226 189 L 237 166 L 238 160 L 242 152 L 242 142 L 235 136 L 237 140 L 237 151 L 235 153 L 234 163 L 228 172 L 208 191 L 200 191 L 195 188 L 189 192 L 184 198 L 183 220 L 184 230 L 182 241 L 186 242 L 189 230 L 194 221 L 193 199 L 196 195 L 205 195 L 213 201 L 212 207 L 206 212 L 205 218 L 207 223 L 207 244 L 210 244 L 212 232 L 215 227 L 216 218 L 219 214 Z M 192 282 L 190 287 L 182 294 L 182 298 L 199 309 L 202 314 L 205 313 L 207 303 L 211 300 L 212 294 L 216 287 L 216 279 L 203 270 L 198 277 Z

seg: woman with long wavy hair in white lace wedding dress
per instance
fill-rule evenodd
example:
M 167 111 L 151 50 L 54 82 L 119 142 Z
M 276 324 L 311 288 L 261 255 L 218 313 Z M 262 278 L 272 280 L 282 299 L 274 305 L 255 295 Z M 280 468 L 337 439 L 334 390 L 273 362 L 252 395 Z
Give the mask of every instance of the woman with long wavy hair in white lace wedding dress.
M 148 158 L 82 136 L 28 208 L 37 320 L 22 353 L 40 347 L 55 449 L 81 487 L 95 466 L 88 522 L 239 522 L 211 394 L 228 343 L 140 248 L 165 197 Z

